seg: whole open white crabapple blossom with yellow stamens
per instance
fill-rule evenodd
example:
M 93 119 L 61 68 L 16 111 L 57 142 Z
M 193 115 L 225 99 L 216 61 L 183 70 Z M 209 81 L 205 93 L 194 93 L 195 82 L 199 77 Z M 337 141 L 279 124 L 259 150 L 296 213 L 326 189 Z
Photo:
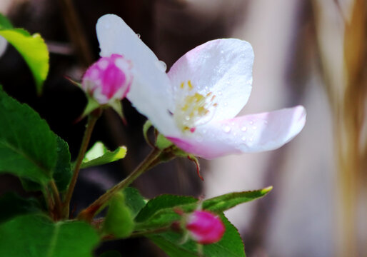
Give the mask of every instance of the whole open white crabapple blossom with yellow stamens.
M 303 106 L 236 116 L 252 88 L 253 49 L 239 39 L 216 39 L 166 67 L 119 16 L 96 25 L 101 56 L 121 54 L 134 65 L 127 99 L 187 153 L 216 158 L 279 148 L 306 122 Z

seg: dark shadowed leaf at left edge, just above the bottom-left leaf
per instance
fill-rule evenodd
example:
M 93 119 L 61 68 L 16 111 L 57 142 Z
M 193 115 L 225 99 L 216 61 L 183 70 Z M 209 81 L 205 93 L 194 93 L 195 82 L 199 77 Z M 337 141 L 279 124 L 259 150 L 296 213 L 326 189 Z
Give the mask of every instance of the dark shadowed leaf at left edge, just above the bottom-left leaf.
M 16 193 L 9 192 L 0 198 L 0 223 L 15 216 L 40 212 L 39 202 L 34 198 L 21 198 Z

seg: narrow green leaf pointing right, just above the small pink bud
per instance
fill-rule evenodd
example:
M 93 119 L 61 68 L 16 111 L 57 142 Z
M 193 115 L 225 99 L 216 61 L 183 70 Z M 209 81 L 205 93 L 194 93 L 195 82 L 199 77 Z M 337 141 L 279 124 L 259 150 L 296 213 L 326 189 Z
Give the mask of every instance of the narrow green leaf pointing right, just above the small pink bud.
M 216 196 L 203 201 L 203 209 L 213 211 L 215 213 L 223 212 L 240 203 L 246 203 L 248 201 L 253 201 L 256 198 L 261 198 L 270 192 L 271 189 L 273 189 L 273 187 L 268 186 L 267 188 L 254 191 L 226 193 L 222 196 Z

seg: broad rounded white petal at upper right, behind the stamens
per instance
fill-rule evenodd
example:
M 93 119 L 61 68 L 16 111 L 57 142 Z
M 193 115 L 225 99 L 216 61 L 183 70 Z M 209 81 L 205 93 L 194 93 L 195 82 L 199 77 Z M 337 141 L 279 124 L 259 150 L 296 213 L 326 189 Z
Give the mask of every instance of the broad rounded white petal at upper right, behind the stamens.
M 215 96 L 213 120 L 233 118 L 251 94 L 253 49 L 239 39 L 208 41 L 183 55 L 169 70 L 176 101 L 183 92 Z M 188 86 L 187 83 L 192 85 Z M 184 84 L 184 87 L 182 84 Z M 190 93 L 190 92 L 188 92 Z

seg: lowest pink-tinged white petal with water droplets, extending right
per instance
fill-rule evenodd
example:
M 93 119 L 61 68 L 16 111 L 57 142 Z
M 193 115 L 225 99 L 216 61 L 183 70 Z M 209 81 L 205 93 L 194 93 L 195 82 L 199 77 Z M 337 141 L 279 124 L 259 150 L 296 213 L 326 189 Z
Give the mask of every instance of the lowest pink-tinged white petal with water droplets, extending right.
M 303 106 L 262 114 L 239 116 L 198 126 L 185 137 L 169 137 L 176 146 L 211 159 L 231 153 L 274 150 L 291 141 L 306 122 Z

